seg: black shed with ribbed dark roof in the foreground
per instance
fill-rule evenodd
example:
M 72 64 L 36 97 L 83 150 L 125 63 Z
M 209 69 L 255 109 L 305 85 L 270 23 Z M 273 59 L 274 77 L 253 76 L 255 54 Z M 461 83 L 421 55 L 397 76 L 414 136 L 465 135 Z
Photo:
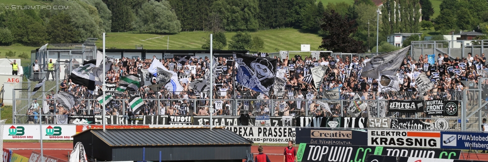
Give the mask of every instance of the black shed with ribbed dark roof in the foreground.
M 73 136 L 97 161 L 241 162 L 252 142 L 224 128 L 89 129 Z

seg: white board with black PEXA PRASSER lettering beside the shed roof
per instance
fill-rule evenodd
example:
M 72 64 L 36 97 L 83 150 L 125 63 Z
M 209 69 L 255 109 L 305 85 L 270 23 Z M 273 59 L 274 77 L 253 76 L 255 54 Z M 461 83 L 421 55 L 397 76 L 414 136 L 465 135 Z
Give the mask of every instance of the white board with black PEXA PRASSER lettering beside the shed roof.
M 225 129 L 254 143 L 287 144 L 289 140 L 295 143 L 296 137 L 295 128 L 228 126 Z

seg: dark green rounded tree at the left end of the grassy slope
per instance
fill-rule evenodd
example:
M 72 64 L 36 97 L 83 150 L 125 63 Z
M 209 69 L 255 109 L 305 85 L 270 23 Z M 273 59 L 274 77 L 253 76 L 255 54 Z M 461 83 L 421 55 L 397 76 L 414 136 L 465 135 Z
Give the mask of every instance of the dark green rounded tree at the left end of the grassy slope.
M 47 34 L 50 43 L 76 42 L 79 32 L 73 26 L 71 17 L 63 11 L 52 15 L 47 24 Z

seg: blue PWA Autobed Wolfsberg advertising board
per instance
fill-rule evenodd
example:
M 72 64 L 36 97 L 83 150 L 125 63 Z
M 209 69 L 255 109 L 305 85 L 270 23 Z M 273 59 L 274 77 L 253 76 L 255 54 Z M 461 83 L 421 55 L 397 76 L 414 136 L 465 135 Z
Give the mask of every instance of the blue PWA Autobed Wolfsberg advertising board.
M 443 149 L 488 150 L 488 133 L 440 132 Z

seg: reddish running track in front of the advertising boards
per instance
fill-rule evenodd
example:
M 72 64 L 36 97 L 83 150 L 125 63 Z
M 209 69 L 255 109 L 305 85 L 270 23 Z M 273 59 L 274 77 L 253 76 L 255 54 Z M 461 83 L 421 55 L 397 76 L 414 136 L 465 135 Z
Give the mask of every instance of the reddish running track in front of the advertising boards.
M 3 148 L 12 150 L 13 153 L 29 158 L 32 151 L 40 152 L 40 143 L 3 143 Z M 282 162 L 285 147 L 263 146 L 264 154 L 267 154 L 271 162 Z M 43 153 L 51 157 L 67 161 L 68 152 L 73 149 L 72 143 L 43 143 Z M 295 147 L 298 149 L 298 147 Z M 251 147 L 251 153 L 257 154 L 257 146 Z M 488 161 L 488 154 L 462 153 L 462 160 Z M 243 161 L 243 160 L 242 160 Z

